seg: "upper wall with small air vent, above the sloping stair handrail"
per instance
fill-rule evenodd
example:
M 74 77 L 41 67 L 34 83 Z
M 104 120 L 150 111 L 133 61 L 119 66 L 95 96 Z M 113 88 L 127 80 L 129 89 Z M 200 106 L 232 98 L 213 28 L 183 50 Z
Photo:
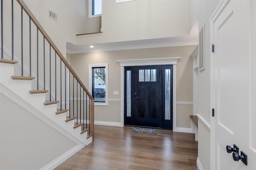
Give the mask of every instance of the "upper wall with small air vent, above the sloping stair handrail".
M 34 16 L 66 56 L 66 42 L 76 44 L 76 34 L 86 32 L 86 1 L 25 0 Z M 48 17 L 48 10 L 58 16 L 58 22 Z

